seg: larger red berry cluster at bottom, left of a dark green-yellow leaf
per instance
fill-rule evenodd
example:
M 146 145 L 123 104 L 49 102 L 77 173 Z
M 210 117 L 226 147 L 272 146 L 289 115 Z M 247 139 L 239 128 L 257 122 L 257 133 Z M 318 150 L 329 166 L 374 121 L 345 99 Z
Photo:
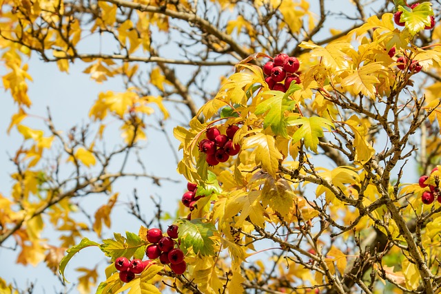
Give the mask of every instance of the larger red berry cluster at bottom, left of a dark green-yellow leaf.
M 178 226 L 172 224 L 168 227 L 167 235 L 164 236 L 161 229 L 149 229 L 147 231 L 147 241 L 152 244 L 145 249 L 145 255 L 150 260 L 159 258 L 162 264 L 169 264 L 174 273 L 181 275 L 187 269 L 187 264 L 184 261 L 183 251 L 174 248 L 177 243 L 173 239 L 178 238 Z

